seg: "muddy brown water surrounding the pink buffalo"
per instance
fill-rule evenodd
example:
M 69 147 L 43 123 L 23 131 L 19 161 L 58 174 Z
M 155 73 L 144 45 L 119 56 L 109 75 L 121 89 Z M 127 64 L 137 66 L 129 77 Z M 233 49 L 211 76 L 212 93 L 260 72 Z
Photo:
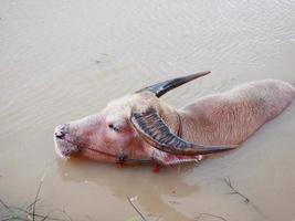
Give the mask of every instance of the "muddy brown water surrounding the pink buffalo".
M 210 76 L 164 97 L 182 107 L 243 82 L 295 82 L 295 2 L 0 0 L 0 198 L 73 220 L 295 220 L 295 103 L 239 149 L 197 165 L 117 168 L 53 149 L 55 125 L 141 86 Z M 245 194 L 245 203 L 223 178 Z M 4 212 L 1 206 L 0 211 Z

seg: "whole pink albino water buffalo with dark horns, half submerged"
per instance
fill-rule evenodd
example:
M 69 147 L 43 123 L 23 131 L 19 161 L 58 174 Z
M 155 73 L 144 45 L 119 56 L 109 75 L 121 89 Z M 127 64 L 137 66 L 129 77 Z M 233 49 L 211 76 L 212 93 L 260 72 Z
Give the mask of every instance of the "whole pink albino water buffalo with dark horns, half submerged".
M 159 97 L 210 72 L 168 80 L 112 101 L 102 112 L 54 130 L 59 156 L 105 162 L 175 165 L 233 149 L 294 98 L 295 87 L 256 81 L 175 109 Z

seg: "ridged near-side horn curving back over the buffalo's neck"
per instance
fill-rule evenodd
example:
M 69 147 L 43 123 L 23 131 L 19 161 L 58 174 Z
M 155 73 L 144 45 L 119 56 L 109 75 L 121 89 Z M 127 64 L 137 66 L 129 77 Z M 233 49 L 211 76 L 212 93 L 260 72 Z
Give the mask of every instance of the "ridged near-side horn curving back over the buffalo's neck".
M 144 114 L 133 113 L 131 123 L 139 135 L 157 149 L 175 155 L 208 155 L 232 149 L 229 146 L 202 146 L 186 141 L 172 134 L 159 114 L 149 108 Z

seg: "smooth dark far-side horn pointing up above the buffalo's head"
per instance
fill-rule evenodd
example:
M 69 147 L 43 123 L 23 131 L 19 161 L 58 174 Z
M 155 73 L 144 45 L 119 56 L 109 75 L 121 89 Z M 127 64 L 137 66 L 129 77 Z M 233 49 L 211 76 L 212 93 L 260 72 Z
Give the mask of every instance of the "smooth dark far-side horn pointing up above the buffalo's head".
M 168 80 L 165 82 L 160 82 L 158 84 L 154 84 L 151 86 L 147 86 L 143 90 L 137 91 L 136 93 L 139 92 L 151 92 L 154 93 L 157 97 L 160 97 L 161 95 L 166 94 L 167 92 L 169 92 L 170 90 L 173 90 L 182 84 L 186 84 L 192 80 L 199 78 L 201 76 L 204 76 L 207 74 L 211 73 L 210 71 L 207 72 L 200 72 L 200 73 L 196 73 L 196 74 L 190 74 L 187 76 L 182 76 L 182 77 L 178 77 L 178 78 L 172 78 L 172 80 Z

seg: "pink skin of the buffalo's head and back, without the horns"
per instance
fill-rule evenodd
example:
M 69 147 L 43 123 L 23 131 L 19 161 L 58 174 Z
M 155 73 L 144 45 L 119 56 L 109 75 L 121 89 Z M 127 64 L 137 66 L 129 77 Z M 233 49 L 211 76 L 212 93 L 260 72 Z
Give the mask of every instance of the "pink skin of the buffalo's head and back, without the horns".
M 104 162 L 198 162 L 202 156 L 168 154 L 143 140 L 130 123 L 131 112 L 145 112 L 152 106 L 171 131 L 177 134 L 181 127 L 181 137 L 194 144 L 238 145 L 282 113 L 294 98 L 295 87 L 278 80 L 243 84 L 202 97 L 178 110 L 150 92 L 128 94 L 95 115 L 57 126 L 55 151 L 62 158 L 76 155 Z M 62 139 L 57 137 L 61 127 L 66 127 L 67 131 Z

